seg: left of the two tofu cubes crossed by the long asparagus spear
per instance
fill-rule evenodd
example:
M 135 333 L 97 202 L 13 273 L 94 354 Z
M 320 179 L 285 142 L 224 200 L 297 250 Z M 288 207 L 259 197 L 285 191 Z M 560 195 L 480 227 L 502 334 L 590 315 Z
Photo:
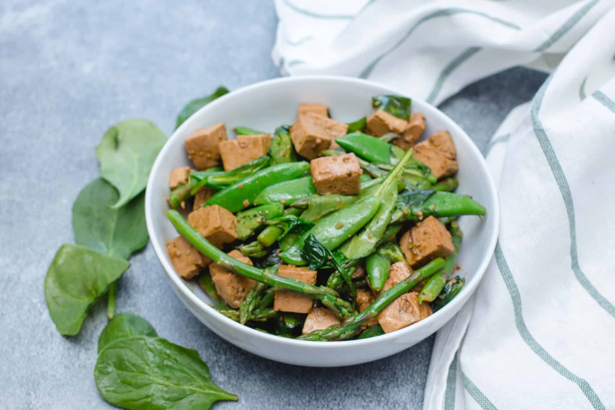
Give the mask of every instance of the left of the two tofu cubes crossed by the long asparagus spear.
M 253 266 L 250 258 L 244 256 L 240 251 L 232 250 L 228 253 L 228 256 Z M 216 292 L 224 300 L 226 306 L 233 309 L 237 309 L 240 306 L 241 302 L 245 299 L 245 295 L 256 285 L 255 280 L 237 275 L 218 263 L 210 264 L 209 273 L 212 274 L 212 281 L 216 286 Z

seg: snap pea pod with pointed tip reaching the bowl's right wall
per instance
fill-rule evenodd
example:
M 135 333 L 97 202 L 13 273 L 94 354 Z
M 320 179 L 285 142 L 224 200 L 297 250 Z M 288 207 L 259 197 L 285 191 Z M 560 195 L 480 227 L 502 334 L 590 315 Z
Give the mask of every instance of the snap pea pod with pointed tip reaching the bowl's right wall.
M 414 191 L 403 192 L 397 198 L 392 223 L 421 221 L 428 216 L 485 215 L 485 207 L 467 195 L 453 192 Z

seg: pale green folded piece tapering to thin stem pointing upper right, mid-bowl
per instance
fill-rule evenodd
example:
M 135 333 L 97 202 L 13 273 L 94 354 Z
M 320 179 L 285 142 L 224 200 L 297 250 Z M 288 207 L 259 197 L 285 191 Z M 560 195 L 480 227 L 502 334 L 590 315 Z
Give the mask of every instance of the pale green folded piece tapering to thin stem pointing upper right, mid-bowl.
M 339 250 L 346 258 L 351 260 L 365 258 L 365 256 L 368 256 L 374 251 L 376 243 L 381 239 L 386 227 L 389 225 L 389 222 L 391 222 L 391 215 L 397 201 L 396 179 L 400 173 L 402 173 L 408 160 L 410 160 L 412 152 L 412 149 L 406 151 L 403 158 L 395 165 L 395 168 L 374 193 L 374 196 L 378 197 L 381 202 L 380 208 L 374 218 L 371 219 L 370 223 L 368 223 L 364 229 L 357 232 L 351 239 L 340 246 Z

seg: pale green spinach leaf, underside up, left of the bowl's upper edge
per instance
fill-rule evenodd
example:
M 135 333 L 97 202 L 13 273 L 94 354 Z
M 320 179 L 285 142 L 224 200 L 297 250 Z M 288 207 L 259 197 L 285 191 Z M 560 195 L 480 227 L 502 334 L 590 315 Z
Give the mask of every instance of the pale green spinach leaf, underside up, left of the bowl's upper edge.
M 119 192 L 112 208 L 123 207 L 145 189 L 149 171 L 166 141 L 160 128 L 143 119 L 120 122 L 107 130 L 96 147 L 96 156 L 100 175 Z

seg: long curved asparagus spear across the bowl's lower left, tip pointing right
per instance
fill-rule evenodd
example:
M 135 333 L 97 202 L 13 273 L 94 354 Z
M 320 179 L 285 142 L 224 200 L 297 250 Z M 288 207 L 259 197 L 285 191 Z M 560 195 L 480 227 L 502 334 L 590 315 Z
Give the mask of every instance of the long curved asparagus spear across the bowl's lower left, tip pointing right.
M 344 318 L 354 313 L 352 305 L 340 299 L 339 294 L 335 290 L 327 288 L 327 286 L 314 286 L 309 285 L 309 283 L 298 282 L 292 278 L 281 277 L 274 273 L 276 269 L 259 269 L 258 267 L 245 264 L 213 246 L 199 231 L 191 227 L 178 211 L 167 211 L 167 218 L 177 229 L 178 234 L 194 246 L 197 251 L 212 259 L 213 262 L 220 264 L 225 269 L 256 282 L 272 286 L 274 290 L 290 290 L 305 294 L 312 299 L 317 299 L 323 304 L 327 304 L 327 307 L 330 309 L 333 309 L 338 317 Z

